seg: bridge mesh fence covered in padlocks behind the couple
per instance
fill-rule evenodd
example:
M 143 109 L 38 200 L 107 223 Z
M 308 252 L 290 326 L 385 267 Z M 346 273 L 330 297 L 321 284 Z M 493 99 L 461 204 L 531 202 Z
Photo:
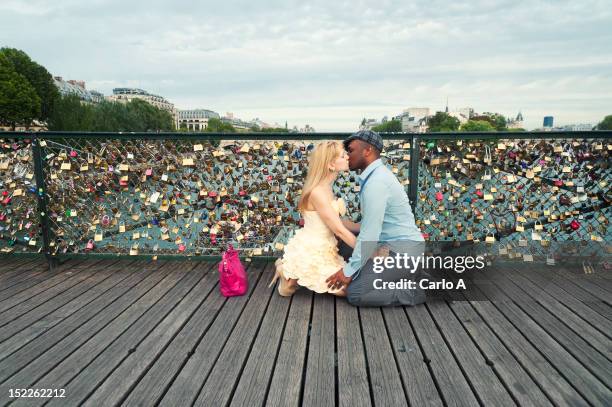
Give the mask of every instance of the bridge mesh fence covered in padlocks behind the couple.
M 300 227 L 308 157 L 350 133 L 0 133 L 0 250 L 275 257 Z M 383 161 L 438 248 L 610 253 L 612 132 L 383 133 Z M 334 186 L 359 220 L 356 174 Z

